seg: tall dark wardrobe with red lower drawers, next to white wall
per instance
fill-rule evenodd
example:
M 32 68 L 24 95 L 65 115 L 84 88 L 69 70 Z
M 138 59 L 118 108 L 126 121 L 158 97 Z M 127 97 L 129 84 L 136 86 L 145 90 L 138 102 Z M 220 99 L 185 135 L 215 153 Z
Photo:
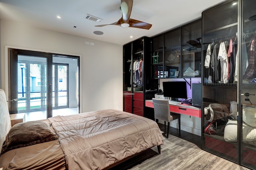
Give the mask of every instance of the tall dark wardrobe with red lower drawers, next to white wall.
M 140 116 L 149 113 L 144 113 L 146 92 L 157 87 L 150 78 L 150 45 L 151 39 L 142 37 L 123 46 L 123 110 Z

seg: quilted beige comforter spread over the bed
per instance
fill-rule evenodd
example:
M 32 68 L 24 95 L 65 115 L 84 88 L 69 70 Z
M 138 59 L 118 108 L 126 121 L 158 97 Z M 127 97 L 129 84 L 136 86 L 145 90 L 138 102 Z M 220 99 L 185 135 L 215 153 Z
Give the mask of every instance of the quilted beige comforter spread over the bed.
M 103 169 L 163 144 L 156 122 L 123 111 L 107 109 L 48 120 L 59 136 L 70 170 Z

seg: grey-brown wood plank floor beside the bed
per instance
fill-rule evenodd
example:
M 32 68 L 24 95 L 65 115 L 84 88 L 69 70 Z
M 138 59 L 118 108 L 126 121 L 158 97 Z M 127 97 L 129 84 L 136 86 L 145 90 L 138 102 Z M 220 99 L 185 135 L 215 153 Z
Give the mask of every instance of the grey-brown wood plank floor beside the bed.
M 159 124 L 164 131 L 164 125 Z M 182 139 L 183 138 L 183 139 Z M 200 149 L 201 137 L 170 128 L 169 138 L 164 137 L 161 154 L 157 147 L 111 168 L 111 170 L 248 170 L 233 162 Z

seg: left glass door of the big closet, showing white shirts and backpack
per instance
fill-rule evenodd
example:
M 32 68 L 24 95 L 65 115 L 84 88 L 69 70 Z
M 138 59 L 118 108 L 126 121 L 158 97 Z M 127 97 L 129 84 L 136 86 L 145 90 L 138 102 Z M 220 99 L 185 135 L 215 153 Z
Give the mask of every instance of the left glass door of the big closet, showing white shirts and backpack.
M 203 12 L 202 22 L 202 147 L 238 163 L 238 1 Z

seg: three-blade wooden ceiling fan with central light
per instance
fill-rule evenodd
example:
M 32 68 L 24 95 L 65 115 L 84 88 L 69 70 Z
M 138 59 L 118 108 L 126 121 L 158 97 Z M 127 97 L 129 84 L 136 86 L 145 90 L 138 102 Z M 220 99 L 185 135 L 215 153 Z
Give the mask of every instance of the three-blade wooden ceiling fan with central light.
M 142 29 L 150 29 L 151 24 L 134 20 L 130 18 L 132 12 L 132 2 L 133 0 L 121 0 L 120 10 L 122 13 L 122 18 L 120 18 L 117 22 L 105 25 L 95 25 L 95 27 L 103 27 L 106 25 L 118 25 L 121 27 L 135 27 L 135 28 L 142 28 Z

